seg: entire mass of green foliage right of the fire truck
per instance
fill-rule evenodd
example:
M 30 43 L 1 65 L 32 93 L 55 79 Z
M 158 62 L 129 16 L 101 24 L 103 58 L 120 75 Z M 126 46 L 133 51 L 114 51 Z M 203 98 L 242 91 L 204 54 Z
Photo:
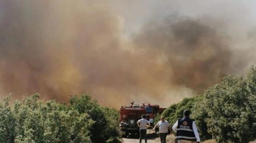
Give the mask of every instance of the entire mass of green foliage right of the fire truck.
M 256 68 L 246 77 L 229 75 L 209 87 L 202 96 L 185 98 L 163 112 L 170 123 L 192 111 L 202 140 L 248 143 L 256 138 Z M 162 116 L 160 115 L 160 116 Z

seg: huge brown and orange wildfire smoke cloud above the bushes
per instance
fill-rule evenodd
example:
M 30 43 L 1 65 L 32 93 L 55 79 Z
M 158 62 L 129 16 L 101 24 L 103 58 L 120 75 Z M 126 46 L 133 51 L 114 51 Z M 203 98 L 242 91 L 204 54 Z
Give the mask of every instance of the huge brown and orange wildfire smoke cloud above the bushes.
M 127 19 L 113 6 L 90 0 L 2 0 L 2 95 L 38 92 L 67 101 L 71 94 L 91 93 L 112 107 L 132 100 L 167 106 L 253 63 L 246 53 L 251 45 L 236 49 L 234 32 L 226 28 L 230 20 L 152 17 L 127 39 Z M 249 35 L 239 42 L 253 43 L 254 32 Z

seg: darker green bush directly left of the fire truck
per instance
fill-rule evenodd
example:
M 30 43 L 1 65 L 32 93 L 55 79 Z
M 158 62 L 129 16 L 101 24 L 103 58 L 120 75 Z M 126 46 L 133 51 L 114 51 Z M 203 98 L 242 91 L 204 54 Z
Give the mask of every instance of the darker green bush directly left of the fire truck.
M 84 94 L 81 96 L 72 96 L 69 100 L 70 108 L 77 110 L 80 114 L 89 114 L 95 123 L 90 128 L 90 138 L 95 143 L 118 142 L 118 111 L 100 107 L 92 96 Z

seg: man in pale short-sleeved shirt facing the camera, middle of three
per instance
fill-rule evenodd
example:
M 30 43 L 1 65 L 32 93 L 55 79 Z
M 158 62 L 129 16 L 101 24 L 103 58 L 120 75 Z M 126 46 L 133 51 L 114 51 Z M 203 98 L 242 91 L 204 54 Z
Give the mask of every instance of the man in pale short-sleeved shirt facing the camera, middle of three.
M 168 135 L 168 129 L 171 130 L 169 122 L 165 120 L 164 116 L 161 116 L 161 120 L 157 122 L 153 130 L 155 130 L 157 126 L 159 127 L 161 143 L 166 143 L 166 136 Z

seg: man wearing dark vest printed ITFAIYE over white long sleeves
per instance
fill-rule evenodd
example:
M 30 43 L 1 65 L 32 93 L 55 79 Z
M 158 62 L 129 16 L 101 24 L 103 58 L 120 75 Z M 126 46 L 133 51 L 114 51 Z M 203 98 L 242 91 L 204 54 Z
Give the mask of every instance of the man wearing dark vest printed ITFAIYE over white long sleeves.
M 172 130 L 176 132 L 178 143 L 191 143 L 196 141 L 200 143 L 200 137 L 194 120 L 190 119 L 190 111 L 184 110 L 184 117 L 179 119 L 173 126 Z

